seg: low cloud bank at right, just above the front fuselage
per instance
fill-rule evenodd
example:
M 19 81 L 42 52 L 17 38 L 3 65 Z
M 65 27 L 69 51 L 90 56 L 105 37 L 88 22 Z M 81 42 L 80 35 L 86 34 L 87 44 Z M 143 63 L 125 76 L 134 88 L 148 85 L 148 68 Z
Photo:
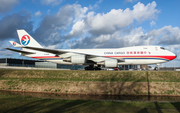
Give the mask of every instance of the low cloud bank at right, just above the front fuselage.
M 78 43 L 78 41 L 80 41 Z M 160 29 L 153 29 L 145 32 L 142 27 L 135 29 L 120 29 L 113 34 L 101 34 L 100 36 L 90 35 L 82 40 L 77 40 L 72 48 L 112 48 L 128 47 L 139 45 L 163 45 L 170 51 L 180 53 L 180 29 L 172 26 L 165 26 Z M 180 54 L 179 54 L 180 56 Z

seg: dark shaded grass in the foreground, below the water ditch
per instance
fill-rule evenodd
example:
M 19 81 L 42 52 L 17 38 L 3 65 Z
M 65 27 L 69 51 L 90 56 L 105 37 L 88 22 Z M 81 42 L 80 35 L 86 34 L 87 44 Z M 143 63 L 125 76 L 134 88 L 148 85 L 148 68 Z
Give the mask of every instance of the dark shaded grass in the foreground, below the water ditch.
M 179 113 L 180 103 L 60 100 L 0 94 L 1 113 Z

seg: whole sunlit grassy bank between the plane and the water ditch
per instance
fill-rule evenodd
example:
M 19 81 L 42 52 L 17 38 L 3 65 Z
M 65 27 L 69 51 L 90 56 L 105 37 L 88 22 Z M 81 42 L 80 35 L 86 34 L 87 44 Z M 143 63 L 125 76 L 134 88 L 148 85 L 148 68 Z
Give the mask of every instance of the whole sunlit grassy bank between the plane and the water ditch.
M 177 71 L 0 69 L 0 89 L 65 94 L 180 96 Z

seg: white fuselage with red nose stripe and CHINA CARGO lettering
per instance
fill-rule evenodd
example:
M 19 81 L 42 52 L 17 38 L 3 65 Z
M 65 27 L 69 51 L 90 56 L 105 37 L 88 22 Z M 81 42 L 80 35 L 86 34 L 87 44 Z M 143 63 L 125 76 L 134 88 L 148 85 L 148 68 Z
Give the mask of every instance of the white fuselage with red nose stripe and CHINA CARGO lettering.
M 36 52 L 36 54 L 25 56 L 68 65 L 71 65 L 72 63 L 63 61 L 63 58 L 68 58 L 73 55 L 79 55 L 79 53 L 99 56 L 88 58 L 88 60 L 94 62 L 102 62 L 108 58 L 124 59 L 123 62 L 118 62 L 118 65 L 159 64 L 168 62 L 176 58 L 176 55 L 174 53 L 165 50 L 160 46 L 134 46 L 115 49 L 65 49 L 64 51 L 68 53 L 57 56 L 55 54 L 46 52 Z

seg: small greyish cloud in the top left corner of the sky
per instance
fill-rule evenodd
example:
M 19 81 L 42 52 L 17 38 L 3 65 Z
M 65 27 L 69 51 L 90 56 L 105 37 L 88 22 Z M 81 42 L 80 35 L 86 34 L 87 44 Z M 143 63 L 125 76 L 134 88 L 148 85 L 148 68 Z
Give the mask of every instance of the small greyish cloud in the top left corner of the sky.
M 19 0 L 0 0 L 0 13 L 10 11 L 18 3 Z

